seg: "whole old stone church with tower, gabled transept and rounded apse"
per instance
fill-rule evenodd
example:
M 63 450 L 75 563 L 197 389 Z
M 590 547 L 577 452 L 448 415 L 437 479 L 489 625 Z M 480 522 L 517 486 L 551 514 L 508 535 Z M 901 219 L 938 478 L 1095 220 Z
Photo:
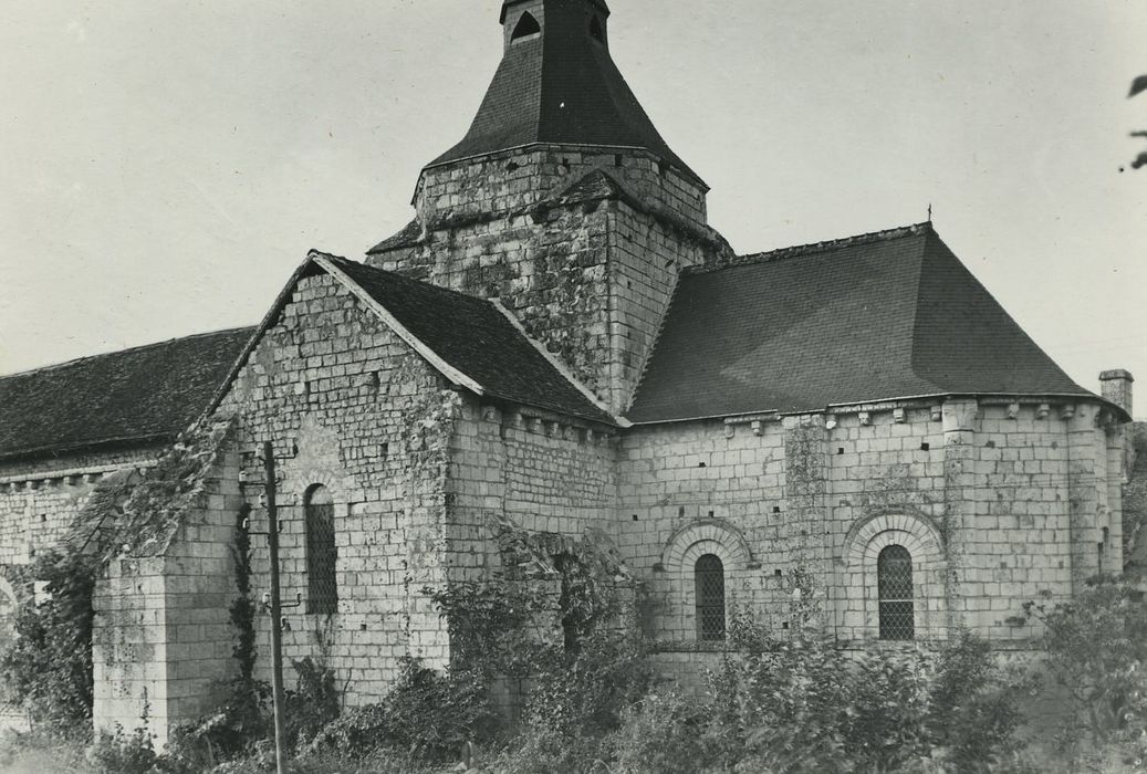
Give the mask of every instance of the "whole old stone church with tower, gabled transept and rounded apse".
M 496 570 L 493 522 L 608 537 L 680 674 L 733 604 L 778 634 L 805 594 L 843 643 L 1022 648 L 1022 602 L 1122 569 L 1130 374 L 1072 382 L 931 224 L 735 253 L 604 0 L 499 21 L 469 132 L 364 259 L 306 256 L 253 328 L 0 378 L 0 612 L 38 552 L 104 547 L 97 725 L 146 702 L 163 737 L 234 669 L 266 441 L 286 656 L 320 632 L 351 704 L 404 655 L 446 662 L 423 589 Z M 267 568 L 256 541 L 256 594 Z

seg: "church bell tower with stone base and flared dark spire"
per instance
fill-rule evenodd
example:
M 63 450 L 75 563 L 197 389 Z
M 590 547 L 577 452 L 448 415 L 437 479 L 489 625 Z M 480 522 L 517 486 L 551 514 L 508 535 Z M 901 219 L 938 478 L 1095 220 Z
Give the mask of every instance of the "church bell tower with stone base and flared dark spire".
M 614 63 L 604 0 L 507 0 L 466 135 L 423 167 L 372 265 L 499 298 L 624 412 L 680 268 L 729 252 L 704 181 Z

